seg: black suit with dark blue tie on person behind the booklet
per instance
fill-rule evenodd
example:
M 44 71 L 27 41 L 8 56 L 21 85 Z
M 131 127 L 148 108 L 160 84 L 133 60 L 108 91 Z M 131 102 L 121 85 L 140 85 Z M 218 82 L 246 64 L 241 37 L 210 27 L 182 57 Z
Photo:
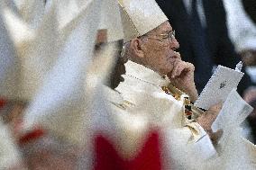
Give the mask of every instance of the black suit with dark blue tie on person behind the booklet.
M 169 22 L 177 31 L 180 54 L 196 66 L 195 82 L 202 92 L 212 75 L 214 66 L 235 67 L 241 60 L 228 37 L 223 1 L 215 0 L 156 0 Z M 214 6 L 214 7 L 213 7 Z M 239 94 L 253 85 L 245 73 Z

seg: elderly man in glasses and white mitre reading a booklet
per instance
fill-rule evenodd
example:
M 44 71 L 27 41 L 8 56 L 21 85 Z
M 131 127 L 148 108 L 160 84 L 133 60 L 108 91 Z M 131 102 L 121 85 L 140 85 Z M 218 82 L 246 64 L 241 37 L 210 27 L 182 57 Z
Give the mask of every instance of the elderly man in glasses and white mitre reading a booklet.
M 123 153 L 123 157 L 131 160 L 134 148 L 137 151 L 143 149 L 142 144 L 147 139 L 145 124 L 148 123 L 150 129 L 158 130 L 160 135 L 161 168 L 215 169 L 218 167 L 213 166 L 215 164 L 225 168 L 230 167 L 227 163 L 230 159 L 239 163 L 230 157 L 233 154 L 228 149 L 236 147 L 230 145 L 225 148 L 230 159 L 225 159 L 222 153 L 217 161 L 212 159 L 213 165 L 206 167 L 206 159 L 218 155 L 209 137 L 216 141 L 211 125 L 221 107 L 218 104 L 203 113 L 190 103 L 188 95 L 192 102 L 197 100 L 194 66 L 182 61 L 175 51 L 178 41 L 160 7 L 153 0 L 119 1 L 119 4 L 124 32 L 123 57 L 132 60 L 126 64 L 124 82 L 116 88 L 124 100 L 116 105 L 125 111 L 117 116 L 130 115 L 130 120 L 128 116 L 117 127 L 121 135 L 118 141 L 124 140 L 123 145 L 126 145 L 126 153 L 119 150 L 119 154 Z M 143 119 L 131 119 L 139 115 Z M 125 130 L 120 127 L 125 127 Z M 239 133 L 233 139 L 240 141 Z M 120 145 L 117 146 L 120 149 Z

